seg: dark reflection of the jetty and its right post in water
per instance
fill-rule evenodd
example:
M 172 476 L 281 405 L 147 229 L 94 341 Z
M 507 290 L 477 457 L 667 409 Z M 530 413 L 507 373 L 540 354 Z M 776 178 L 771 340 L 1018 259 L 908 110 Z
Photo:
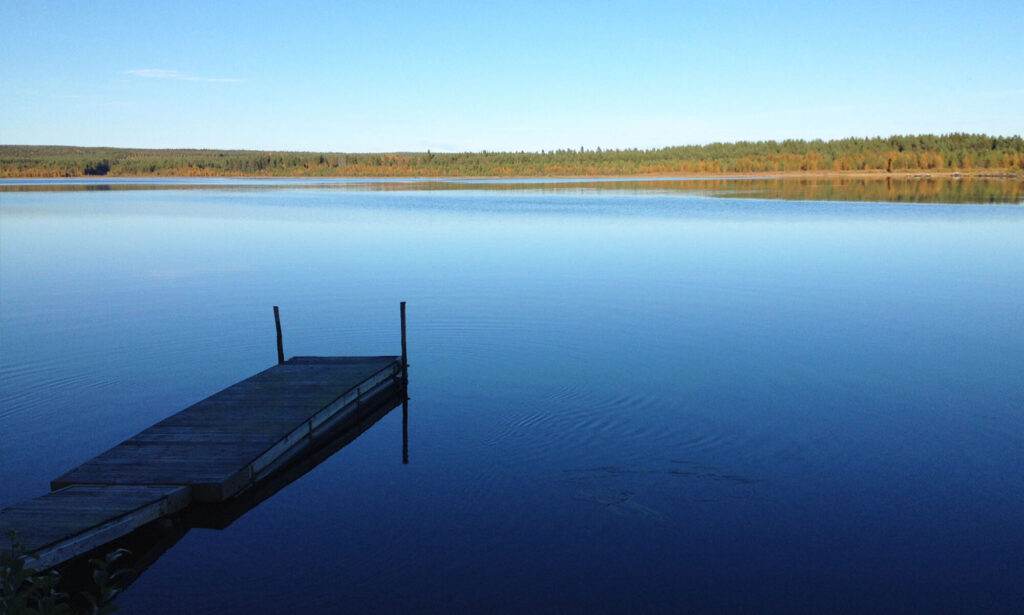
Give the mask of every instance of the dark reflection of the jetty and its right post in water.
M 72 596 L 81 590 L 91 590 L 94 565 L 90 560 L 103 559 L 119 548 L 131 552 L 125 558 L 130 574 L 122 575 L 118 585 L 124 589 L 155 564 L 161 556 L 180 541 L 193 528 L 226 529 L 246 513 L 292 484 L 336 452 L 366 433 L 391 410 L 401 405 L 401 462 L 409 464 L 409 396 L 407 382 L 396 379 L 390 386 L 361 403 L 356 410 L 341 418 L 329 431 L 313 438 L 301 448 L 295 458 L 268 476 L 265 480 L 220 503 L 194 502 L 173 516 L 150 523 L 131 534 L 93 550 L 61 568 L 61 588 Z M 119 563 L 121 562 L 119 561 Z M 113 572 L 110 571 L 110 572 Z

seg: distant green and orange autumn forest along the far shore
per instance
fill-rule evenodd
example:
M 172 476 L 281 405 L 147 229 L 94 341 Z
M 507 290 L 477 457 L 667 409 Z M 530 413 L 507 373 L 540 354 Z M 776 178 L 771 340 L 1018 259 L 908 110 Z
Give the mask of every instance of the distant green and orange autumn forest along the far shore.
M 1024 139 L 984 134 L 739 141 L 660 149 L 345 153 L 0 145 L 0 177 L 514 177 L 791 171 L 1024 171 Z

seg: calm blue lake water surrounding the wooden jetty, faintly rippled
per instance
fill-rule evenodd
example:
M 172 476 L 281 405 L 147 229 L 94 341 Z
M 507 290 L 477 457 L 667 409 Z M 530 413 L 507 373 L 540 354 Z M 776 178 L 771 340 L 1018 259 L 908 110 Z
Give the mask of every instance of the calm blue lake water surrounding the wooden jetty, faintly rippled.
M 76 185 L 0 183 L 0 507 L 273 364 L 272 305 L 359 355 L 409 302 L 409 464 L 393 411 L 122 612 L 1024 604 L 1019 184 Z

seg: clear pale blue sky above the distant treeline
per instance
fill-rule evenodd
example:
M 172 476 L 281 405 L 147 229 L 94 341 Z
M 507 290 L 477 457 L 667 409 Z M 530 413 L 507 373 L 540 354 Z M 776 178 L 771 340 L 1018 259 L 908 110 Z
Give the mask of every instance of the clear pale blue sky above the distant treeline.
M 1022 32 L 1021 0 L 0 0 L 0 143 L 539 151 L 1020 135 Z

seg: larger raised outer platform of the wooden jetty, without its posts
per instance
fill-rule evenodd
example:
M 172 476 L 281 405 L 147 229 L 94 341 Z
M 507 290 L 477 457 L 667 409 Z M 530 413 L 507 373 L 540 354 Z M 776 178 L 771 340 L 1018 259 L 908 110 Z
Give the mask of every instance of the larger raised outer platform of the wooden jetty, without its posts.
M 187 485 L 223 501 L 400 374 L 398 357 L 294 357 L 181 410 L 52 481 Z

